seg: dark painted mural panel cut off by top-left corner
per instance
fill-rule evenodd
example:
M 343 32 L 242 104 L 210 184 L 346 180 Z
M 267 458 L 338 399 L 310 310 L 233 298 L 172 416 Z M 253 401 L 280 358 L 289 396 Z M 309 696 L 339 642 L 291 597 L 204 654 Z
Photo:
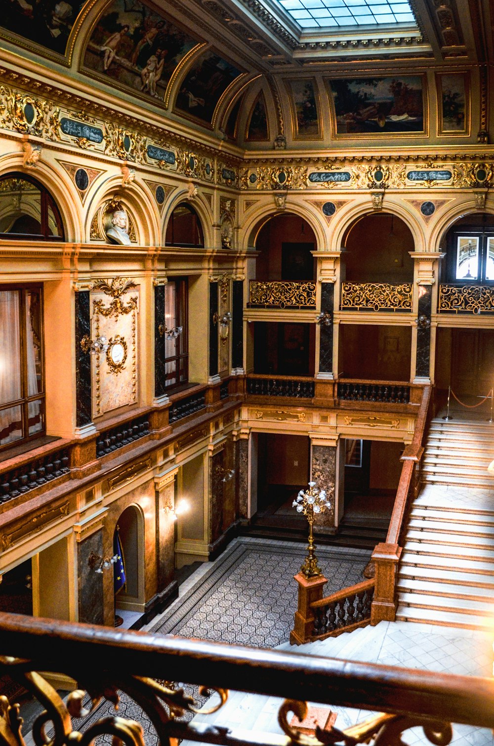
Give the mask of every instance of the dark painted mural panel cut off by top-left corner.
M 83 5 L 84 1 L 78 0 L 0 0 L 1 28 L 65 54 L 72 26 Z

